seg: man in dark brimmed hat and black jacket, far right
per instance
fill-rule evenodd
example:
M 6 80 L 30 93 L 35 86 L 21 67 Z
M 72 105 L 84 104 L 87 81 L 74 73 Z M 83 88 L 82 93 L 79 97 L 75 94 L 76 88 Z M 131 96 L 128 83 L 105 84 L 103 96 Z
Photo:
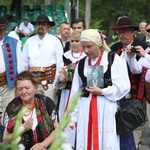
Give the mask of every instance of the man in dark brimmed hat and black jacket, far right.
M 130 83 L 131 83 L 131 90 L 128 94 L 128 98 L 139 98 L 138 97 L 138 91 L 139 91 L 139 82 L 140 82 L 140 74 L 133 74 L 130 70 L 130 65 L 127 64 L 131 61 L 131 54 L 133 53 L 137 60 L 139 60 L 140 56 L 137 55 L 137 46 L 143 47 L 144 50 L 149 49 L 146 42 L 142 42 L 135 36 L 135 31 L 138 30 L 138 26 L 132 24 L 132 21 L 129 17 L 122 17 L 119 19 L 116 26 L 111 27 L 112 30 L 117 30 L 118 37 L 120 42 L 114 44 L 111 46 L 111 50 L 113 52 L 117 52 L 120 57 L 122 57 L 122 61 L 124 61 L 124 65 L 128 69 Z M 132 143 L 133 139 L 126 139 L 122 141 L 129 141 Z M 130 145 L 130 144 L 124 144 L 124 145 Z M 132 146 L 134 147 L 134 141 L 133 145 L 130 145 L 131 147 L 127 147 L 128 149 L 132 149 Z

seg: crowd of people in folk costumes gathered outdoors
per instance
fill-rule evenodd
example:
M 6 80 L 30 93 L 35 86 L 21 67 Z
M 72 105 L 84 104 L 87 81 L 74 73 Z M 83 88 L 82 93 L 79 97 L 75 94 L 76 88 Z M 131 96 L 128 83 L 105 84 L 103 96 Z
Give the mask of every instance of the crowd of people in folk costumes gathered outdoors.
M 82 18 L 63 22 L 58 36 L 50 34 L 55 22 L 44 14 L 33 25 L 25 19 L 19 27 L 19 36 L 28 37 L 21 50 L 20 40 L 6 34 L 8 24 L 0 18 L 3 142 L 11 143 L 16 116 L 27 106 L 20 142 L 26 150 L 48 149 L 70 99 L 82 91 L 68 116 L 74 122 L 64 129 L 65 142 L 75 150 L 136 150 L 134 133 L 117 134 L 115 114 L 118 100 L 138 98 L 146 102 L 150 127 L 149 24 L 138 26 L 128 14 L 119 14 L 111 27 L 118 39 L 111 47 L 101 30 L 87 29 Z M 89 85 L 91 68 L 98 81 Z M 100 71 L 94 75 L 95 70 Z

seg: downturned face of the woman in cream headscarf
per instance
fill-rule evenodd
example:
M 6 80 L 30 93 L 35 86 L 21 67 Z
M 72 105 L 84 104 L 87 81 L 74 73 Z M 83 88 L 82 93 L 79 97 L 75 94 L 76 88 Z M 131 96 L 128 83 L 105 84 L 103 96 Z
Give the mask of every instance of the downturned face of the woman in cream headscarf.
M 85 54 L 91 58 L 94 59 L 100 55 L 101 48 L 100 46 L 94 44 L 91 41 L 81 41 L 81 45 L 83 47 L 83 50 Z

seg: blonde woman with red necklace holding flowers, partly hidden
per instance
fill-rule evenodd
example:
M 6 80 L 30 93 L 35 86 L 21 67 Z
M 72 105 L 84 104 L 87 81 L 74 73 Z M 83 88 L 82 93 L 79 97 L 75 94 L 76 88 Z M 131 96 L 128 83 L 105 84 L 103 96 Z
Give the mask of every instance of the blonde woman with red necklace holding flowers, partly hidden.
M 59 119 L 60 122 L 64 115 L 65 110 L 68 106 L 68 100 L 70 96 L 72 78 L 74 73 L 74 68 L 76 63 L 85 57 L 85 53 L 83 52 L 83 48 L 80 42 L 81 33 L 79 31 L 73 31 L 70 35 L 70 50 L 63 54 L 64 64 L 66 66 L 60 71 L 58 76 L 58 82 L 60 83 L 61 97 L 60 97 L 60 104 L 59 104 Z M 66 69 L 66 67 L 68 69 Z M 66 71 L 65 71 L 66 69 Z M 70 76 L 68 73 L 71 73 Z M 66 75 L 68 74 L 68 75 Z M 68 77 L 69 76 L 69 77 Z M 58 87 L 57 87 L 58 88 Z M 74 147 L 75 141 L 75 128 L 72 129 L 69 126 L 65 129 L 65 132 L 68 134 L 68 142 Z

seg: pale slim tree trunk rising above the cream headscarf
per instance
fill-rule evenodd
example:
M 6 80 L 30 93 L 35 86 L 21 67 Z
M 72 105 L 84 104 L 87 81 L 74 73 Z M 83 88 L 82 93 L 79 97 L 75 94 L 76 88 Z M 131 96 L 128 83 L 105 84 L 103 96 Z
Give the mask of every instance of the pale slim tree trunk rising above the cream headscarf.
M 91 1 L 92 0 L 86 0 L 85 22 L 86 22 L 86 27 L 87 28 L 89 28 L 90 20 L 91 20 Z

